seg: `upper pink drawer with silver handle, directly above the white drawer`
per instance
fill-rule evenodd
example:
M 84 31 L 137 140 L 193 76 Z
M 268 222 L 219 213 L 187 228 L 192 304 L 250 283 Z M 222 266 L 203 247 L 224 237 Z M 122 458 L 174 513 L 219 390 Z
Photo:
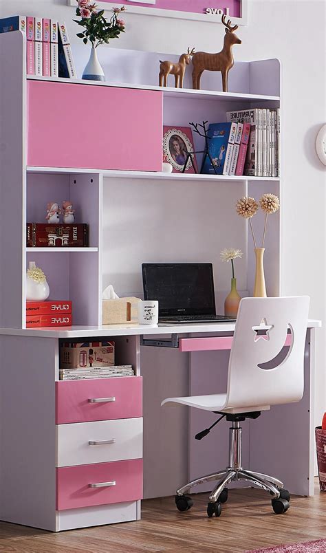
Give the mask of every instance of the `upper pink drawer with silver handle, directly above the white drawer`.
M 56 424 L 142 417 L 142 377 L 56 382 Z

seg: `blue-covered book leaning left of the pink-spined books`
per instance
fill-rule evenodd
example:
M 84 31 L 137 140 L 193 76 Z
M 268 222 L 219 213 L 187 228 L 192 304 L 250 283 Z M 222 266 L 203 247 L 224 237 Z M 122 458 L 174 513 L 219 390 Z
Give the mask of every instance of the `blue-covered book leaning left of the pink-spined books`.
M 208 127 L 208 151 L 217 175 L 228 175 L 236 132 L 237 124 L 231 122 L 210 123 Z M 214 167 L 206 157 L 201 173 L 215 175 Z

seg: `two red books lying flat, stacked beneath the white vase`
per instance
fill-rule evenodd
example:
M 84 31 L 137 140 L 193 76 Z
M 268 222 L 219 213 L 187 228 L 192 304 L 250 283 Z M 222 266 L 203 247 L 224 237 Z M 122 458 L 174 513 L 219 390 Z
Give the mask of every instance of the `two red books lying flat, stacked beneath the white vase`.
M 72 325 L 71 301 L 26 301 L 26 328 Z

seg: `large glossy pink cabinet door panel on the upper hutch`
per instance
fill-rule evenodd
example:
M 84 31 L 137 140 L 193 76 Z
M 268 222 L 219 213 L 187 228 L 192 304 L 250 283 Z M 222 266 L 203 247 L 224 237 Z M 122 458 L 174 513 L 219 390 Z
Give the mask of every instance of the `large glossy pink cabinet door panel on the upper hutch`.
M 162 92 L 27 84 L 28 165 L 162 171 Z

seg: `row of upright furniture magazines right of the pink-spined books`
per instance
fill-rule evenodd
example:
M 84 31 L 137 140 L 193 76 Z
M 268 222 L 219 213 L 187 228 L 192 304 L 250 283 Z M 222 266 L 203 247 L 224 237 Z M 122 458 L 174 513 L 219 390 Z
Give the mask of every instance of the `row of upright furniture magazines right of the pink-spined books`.
M 243 174 L 254 177 L 279 177 L 279 109 L 252 108 L 227 111 L 226 120 L 237 124 L 250 124 Z

